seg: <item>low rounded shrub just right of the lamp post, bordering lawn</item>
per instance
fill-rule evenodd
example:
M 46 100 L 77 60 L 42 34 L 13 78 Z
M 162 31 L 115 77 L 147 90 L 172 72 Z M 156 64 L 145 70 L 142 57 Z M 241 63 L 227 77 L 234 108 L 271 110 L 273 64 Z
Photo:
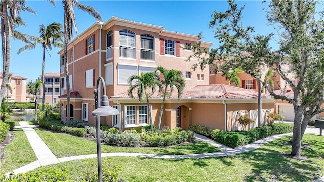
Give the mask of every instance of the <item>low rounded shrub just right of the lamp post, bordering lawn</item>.
M 108 145 L 135 147 L 140 141 L 140 136 L 135 133 L 112 134 L 103 132 L 103 139 Z

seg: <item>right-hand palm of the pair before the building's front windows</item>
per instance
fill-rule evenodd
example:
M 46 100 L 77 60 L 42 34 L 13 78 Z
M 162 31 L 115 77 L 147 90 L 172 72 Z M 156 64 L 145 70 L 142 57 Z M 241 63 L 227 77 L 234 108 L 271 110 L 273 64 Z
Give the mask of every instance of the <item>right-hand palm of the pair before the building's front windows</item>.
M 162 100 L 160 115 L 159 115 L 159 119 L 158 119 L 157 131 L 159 131 L 159 129 L 161 127 L 164 101 L 165 101 L 165 98 L 167 95 L 167 88 L 170 87 L 170 91 L 173 92 L 174 87 L 176 87 L 178 90 L 178 98 L 180 98 L 182 95 L 182 91 L 186 85 L 186 81 L 183 79 L 183 74 L 181 71 L 174 70 L 174 69 L 166 70 L 162 66 L 157 67 L 156 70 L 160 72 L 161 76 L 163 76 L 163 78 L 161 78 L 160 80 L 161 80 L 162 86 L 164 87 L 164 90 L 162 93 L 163 100 Z

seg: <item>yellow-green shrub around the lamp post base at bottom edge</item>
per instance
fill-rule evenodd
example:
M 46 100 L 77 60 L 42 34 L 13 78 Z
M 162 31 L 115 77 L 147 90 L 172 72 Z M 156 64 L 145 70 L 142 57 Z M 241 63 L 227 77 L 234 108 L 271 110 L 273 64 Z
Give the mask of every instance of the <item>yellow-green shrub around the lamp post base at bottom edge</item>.
M 98 181 L 98 167 L 97 163 L 91 161 L 89 163 L 85 163 L 85 166 L 90 166 L 86 168 L 84 172 L 85 181 Z M 102 161 L 102 179 L 105 182 L 117 182 L 120 180 L 118 177 L 121 171 L 121 167 L 112 165 L 108 160 Z

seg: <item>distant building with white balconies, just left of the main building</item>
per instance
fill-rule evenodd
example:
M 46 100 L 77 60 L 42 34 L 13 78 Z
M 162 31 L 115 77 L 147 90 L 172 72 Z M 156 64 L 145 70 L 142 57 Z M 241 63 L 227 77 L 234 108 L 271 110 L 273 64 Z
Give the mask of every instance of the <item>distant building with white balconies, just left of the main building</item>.
M 60 96 L 60 73 L 45 73 L 45 103 L 56 104 L 59 102 Z M 39 102 L 42 102 L 43 86 L 41 88 L 41 94 L 39 95 Z

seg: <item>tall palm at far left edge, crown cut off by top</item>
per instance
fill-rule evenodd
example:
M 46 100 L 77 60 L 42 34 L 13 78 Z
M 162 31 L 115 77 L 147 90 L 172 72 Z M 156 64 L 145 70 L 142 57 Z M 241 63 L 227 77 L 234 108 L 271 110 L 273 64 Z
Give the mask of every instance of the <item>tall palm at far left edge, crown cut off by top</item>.
M 54 2 L 54 0 L 50 0 Z M 1 41 L 2 41 L 2 56 L 3 56 L 3 80 L 0 88 L 0 102 L 5 95 L 7 79 L 9 76 L 10 67 L 10 36 L 19 39 L 15 36 L 14 27 L 19 25 L 17 22 L 22 22 L 20 12 L 35 13 L 34 10 L 26 6 L 25 0 L 2 0 L 0 5 L 1 14 Z

